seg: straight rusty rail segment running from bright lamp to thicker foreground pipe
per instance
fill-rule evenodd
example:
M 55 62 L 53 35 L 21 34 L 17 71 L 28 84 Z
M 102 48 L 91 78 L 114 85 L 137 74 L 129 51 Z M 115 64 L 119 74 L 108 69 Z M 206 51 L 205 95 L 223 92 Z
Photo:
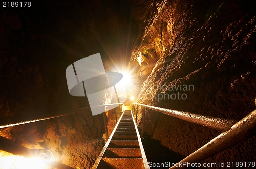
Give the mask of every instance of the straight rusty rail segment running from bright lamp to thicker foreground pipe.
M 205 115 L 193 114 L 191 112 L 184 112 L 166 108 L 160 108 L 145 104 L 133 103 L 139 106 L 144 106 L 154 111 L 161 112 L 162 114 L 173 116 L 188 122 L 200 124 L 212 129 L 220 130 L 220 131 L 227 131 L 231 128 L 236 122 L 233 120 L 221 119 L 217 117 L 210 117 Z

